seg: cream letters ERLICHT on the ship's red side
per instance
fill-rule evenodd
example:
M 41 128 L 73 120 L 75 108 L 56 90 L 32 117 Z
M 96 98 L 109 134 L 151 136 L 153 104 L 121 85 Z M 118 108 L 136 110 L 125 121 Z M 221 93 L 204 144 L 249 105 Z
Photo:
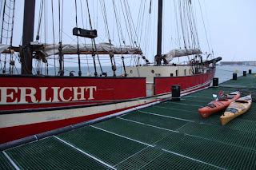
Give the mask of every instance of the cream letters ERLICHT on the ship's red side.
M 94 100 L 96 86 L 83 87 L 0 87 L 0 104 L 50 103 Z

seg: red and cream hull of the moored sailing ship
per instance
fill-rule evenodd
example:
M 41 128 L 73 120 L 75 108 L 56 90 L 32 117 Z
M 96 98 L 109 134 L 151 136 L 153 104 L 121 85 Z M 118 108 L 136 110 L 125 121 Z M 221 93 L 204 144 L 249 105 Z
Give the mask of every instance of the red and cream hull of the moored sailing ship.
M 171 85 L 181 93 L 202 89 L 214 73 L 156 77 L 151 97 L 145 77 L 1 76 L 0 144 L 165 100 Z

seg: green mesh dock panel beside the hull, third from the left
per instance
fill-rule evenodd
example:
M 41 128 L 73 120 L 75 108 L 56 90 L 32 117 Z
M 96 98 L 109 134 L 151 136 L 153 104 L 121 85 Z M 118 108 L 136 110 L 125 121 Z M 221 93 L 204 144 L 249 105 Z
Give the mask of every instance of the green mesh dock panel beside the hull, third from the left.
M 111 165 L 118 164 L 146 148 L 145 144 L 93 127 L 79 128 L 76 131 L 62 133 L 58 137 Z

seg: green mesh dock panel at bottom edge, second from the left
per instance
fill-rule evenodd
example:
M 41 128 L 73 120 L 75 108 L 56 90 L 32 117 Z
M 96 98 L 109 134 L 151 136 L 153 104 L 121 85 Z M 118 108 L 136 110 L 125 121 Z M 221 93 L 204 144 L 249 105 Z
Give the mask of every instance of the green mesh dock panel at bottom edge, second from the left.
M 55 137 L 11 148 L 6 153 L 21 169 L 106 169 Z

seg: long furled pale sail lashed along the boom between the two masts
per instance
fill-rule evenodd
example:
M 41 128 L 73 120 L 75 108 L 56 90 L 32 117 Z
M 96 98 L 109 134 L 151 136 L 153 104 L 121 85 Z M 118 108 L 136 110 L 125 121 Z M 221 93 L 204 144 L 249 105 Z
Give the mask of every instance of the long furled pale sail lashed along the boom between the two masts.
M 58 54 L 59 45 L 46 44 L 44 45 L 44 52 L 47 56 Z M 138 47 L 132 46 L 115 46 L 110 45 L 110 43 L 100 43 L 96 45 L 98 53 L 123 53 L 123 54 L 142 54 L 142 50 Z M 96 49 L 94 45 L 79 45 L 80 53 L 92 53 L 96 54 Z M 78 45 L 62 45 L 62 53 L 64 54 L 75 54 L 78 53 Z M 46 57 L 47 57 L 46 56 Z

